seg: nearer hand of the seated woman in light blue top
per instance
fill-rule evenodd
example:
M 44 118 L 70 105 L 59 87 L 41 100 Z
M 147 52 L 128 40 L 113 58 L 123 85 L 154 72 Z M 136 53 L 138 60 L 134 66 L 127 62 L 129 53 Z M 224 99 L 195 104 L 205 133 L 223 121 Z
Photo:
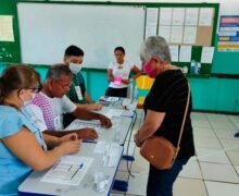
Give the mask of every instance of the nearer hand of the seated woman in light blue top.
M 76 139 L 76 140 L 67 140 L 62 143 L 59 148 L 62 150 L 63 155 L 67 155 L 67 154 L 76 154 L 79 151 L 80 148 L 80 140 Z

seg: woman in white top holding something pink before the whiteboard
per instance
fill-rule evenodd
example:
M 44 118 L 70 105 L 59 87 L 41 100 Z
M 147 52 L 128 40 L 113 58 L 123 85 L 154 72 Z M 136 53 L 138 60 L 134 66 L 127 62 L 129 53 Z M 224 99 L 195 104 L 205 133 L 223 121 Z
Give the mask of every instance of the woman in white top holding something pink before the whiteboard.
M 110 85 L 105 91 L 105 96 L 126 98 L 130 73 L 135 74 L 131 77 L 131 79 L 135 79 L 141 75 L 141 72 L 134 63 L 124 59 L 125 49 L 123 47 L 116 47 L 114 49 L 114 56 L 116 61 L 110 62 L 108 68 L 108 81 Z

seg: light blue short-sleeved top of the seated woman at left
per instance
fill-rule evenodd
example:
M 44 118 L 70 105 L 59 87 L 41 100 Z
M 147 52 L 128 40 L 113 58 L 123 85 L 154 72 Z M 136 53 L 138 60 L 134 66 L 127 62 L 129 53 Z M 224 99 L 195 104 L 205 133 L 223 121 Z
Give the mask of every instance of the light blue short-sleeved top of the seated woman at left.
M 40 132 L 21 111 L 12 107 L 0 106 L 0 139 L 14 135 L 26 126 L 35 134 L 39 145 L 43 146 Z M 0 195 L 17 195 L 18 185 L 30 171 L 32 169 L 0 140 Z

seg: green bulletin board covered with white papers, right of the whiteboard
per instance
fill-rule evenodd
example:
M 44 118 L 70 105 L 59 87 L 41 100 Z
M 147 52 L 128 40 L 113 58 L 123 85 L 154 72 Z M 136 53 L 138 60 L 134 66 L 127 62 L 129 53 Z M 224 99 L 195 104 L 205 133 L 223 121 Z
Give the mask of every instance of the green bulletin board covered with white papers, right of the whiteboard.
M 178 56 L 172 59 L 173 64 L 186 68 L 189 76 L 210 77 L 213 64 L 212 51 L 215 50 L 216 45 L 218 9 L 218 3 L 148 5 L 144 38 L 151 35 L 164 37 L 171 46 L 171 52 L 176 51 L 176 56 Z M 187 61 L 183 61 L 179 53 L 180 49 L 186 47 L 190 48 L 191 57 Z M 174 52 L 172 48 L 174 48 Z M 200 65 L 197 74 L 191 72 L 191 61 L 196 61 Z

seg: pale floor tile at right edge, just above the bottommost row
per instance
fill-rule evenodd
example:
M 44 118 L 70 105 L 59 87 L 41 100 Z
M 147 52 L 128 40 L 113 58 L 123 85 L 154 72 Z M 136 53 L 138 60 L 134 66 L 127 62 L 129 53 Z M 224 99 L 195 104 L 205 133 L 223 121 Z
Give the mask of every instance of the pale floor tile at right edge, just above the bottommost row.
M 200 162 L 204 180 L 239 183 L 239 176 L 230 164 Z

